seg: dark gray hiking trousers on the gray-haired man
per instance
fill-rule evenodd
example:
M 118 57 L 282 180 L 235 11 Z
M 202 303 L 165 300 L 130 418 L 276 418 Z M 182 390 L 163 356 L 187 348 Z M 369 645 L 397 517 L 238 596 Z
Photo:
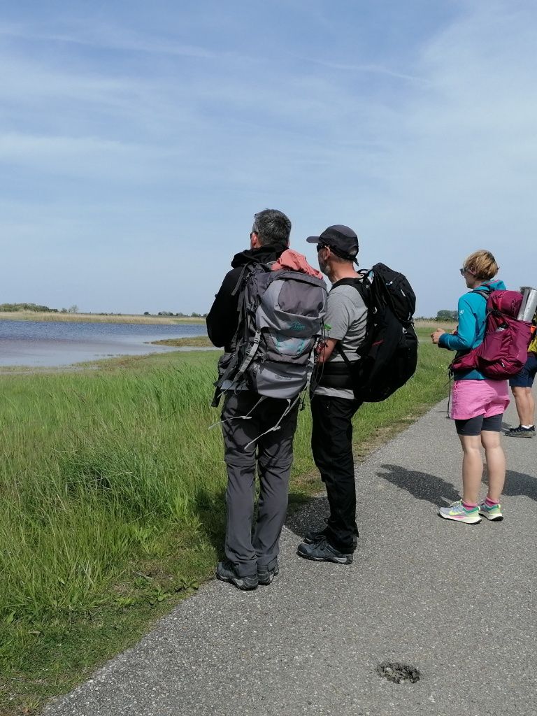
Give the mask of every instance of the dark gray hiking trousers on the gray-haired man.
M 222 409 L 224 453 L 228 470 L 226 501 L 226 557 L 233 562 L 237 574 L 255 574 L 257 565 L 276 563 L 279 537 L 287 512 L 289 474 L 293 462 L 293 438 L 296 430 L 298 404 L 280 422 L 279 430 L 268 432 L 276 425 L 289 402 L 265 398 L 247 415 L 260 396 L 247 390 L 226 396 Z M 229 420 L 230 418 L 236 420 Z M 248 442 L 259 437 L 253 445 Z M 256 465 L 259 478 L 258 514 L 253 529 L 256 497 Z

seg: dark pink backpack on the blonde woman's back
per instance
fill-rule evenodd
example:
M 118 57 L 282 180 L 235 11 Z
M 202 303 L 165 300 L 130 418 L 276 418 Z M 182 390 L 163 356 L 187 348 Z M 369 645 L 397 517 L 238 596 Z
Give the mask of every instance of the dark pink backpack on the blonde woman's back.
M 531 323 L 519 321 L 522 294 L 518 291 L 475 291 L 487 301 L 485 338 L 477 348 L 456 357 L 450 369 L 477 369 L 486 378 L 501 380 L 521 372 L 528 358 Z

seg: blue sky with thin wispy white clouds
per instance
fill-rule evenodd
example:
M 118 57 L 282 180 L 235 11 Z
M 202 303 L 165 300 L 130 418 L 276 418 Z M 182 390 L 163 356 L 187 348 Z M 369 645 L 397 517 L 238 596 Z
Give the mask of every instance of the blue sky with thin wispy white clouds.
M 205 313 L 253 214 L 357 232 L 417 316 L 537 286 L 534 0 L 0 6 L 0 303 Z

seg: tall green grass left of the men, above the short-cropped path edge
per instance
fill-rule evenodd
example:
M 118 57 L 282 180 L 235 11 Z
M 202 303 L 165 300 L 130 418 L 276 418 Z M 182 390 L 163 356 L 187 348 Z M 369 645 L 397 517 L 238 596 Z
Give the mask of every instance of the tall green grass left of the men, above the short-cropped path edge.
M 89 608 L 224 479 L 212 365 L 3 381 L 0 619 Z

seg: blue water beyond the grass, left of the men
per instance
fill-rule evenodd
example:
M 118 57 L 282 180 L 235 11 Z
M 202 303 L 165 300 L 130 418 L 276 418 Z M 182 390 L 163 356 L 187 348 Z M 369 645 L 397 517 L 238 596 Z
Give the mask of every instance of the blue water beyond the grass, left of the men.
M 205 336 L 205 324 L 77 323 L 0 320 L 0 366 L 64 366 L 117 355 L 162 353 L 166 338 Z

